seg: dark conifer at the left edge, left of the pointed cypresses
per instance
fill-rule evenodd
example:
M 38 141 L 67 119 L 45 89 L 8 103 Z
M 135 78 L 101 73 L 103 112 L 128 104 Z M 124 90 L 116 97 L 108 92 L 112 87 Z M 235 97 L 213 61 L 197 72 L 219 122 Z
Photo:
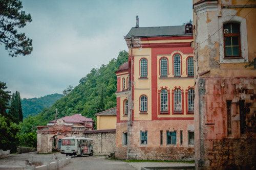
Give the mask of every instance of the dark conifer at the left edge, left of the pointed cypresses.
M 11 91 L 6 91 L 6 83 L 0 82 L 0 114 L 5 115 L 6 109 L 8 109 L 9 100 L 11 99 Z

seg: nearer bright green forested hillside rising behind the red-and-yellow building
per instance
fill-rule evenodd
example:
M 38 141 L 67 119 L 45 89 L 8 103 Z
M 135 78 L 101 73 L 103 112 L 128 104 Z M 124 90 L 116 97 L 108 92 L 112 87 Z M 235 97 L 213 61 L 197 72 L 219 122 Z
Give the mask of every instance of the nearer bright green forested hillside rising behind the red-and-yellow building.
M 112 59 L 108 65 L 102 64 L 100 68 L 93 68 L 70 93 L 52 107 L 43 109 L 38 117 L 42 117 L 44 122 L 49 122 L 54 119 L 58 109 L 57 118 L 76 113 L 95 118 L 95 113 L 116 107 L 115 71 L 127 61 L 128 53 L 121 51 L 117 59 Z

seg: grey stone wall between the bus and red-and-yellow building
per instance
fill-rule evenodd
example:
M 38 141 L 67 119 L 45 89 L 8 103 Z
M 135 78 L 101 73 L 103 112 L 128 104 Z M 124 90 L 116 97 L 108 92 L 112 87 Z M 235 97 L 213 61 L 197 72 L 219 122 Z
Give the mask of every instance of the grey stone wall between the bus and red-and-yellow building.
M 115 151 L 115 132 L 89 133 L 85 134 L 85 137 L 93 139 L 94 154 L 109 155 Z

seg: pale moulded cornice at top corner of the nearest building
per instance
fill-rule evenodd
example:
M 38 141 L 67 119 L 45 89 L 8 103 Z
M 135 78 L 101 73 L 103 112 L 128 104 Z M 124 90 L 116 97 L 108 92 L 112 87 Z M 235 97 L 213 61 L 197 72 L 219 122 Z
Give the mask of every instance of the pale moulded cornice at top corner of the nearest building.
M 200 4 L 194 5 L 194 10 L 197 14 L 208 11 L 217 11 L 218 1 L 204 1 Z

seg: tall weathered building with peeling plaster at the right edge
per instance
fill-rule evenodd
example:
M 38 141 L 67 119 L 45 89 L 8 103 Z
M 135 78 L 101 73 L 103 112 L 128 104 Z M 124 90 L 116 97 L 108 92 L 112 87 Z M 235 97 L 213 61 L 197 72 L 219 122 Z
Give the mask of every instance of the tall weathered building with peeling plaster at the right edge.
M 255 169 L 256 1 L 194 0 L 197 169 Z

